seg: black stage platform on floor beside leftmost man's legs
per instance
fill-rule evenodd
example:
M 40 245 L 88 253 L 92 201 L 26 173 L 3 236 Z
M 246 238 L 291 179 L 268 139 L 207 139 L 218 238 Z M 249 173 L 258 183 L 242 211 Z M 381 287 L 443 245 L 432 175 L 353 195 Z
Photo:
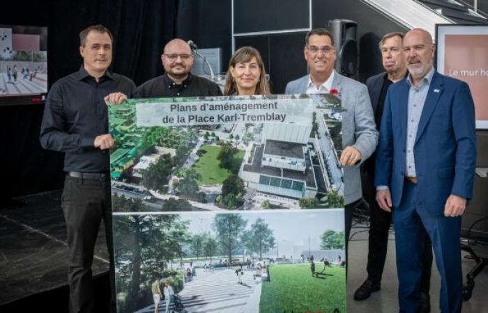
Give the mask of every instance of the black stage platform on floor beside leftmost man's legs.
M 61 190 L 15 198 L 0 209 L 0 312 L 68 312 L 68 245 Z M 3 206 L 4 204 L 2 204 Z M 105 227 L 100 227 L 92 271 L 96 307 L 108 308 Z

